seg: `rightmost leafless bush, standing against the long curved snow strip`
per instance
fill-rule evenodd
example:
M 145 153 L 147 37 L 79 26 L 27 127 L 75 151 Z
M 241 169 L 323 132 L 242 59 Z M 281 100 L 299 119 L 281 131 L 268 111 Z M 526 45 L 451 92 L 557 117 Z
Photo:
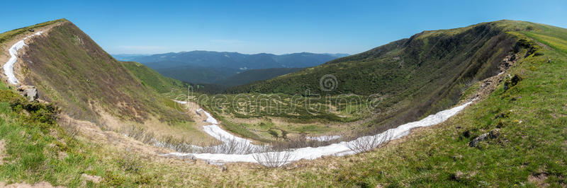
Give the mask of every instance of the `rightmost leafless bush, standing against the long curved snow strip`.
M 347 147 L 356 153 L 371 151 L 384 143 L 388 143 L 392 139 L 392 134 L 393 132 L 388 130 L 381 134 L 361 136 L 358 139 L 347 142 Z

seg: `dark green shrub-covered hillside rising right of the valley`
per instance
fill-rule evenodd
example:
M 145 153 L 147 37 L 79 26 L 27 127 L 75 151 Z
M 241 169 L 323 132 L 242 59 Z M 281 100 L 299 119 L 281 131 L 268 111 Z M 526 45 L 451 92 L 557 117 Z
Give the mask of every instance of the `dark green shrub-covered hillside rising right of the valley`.
M 378 95 L 372 127 L 391 128 L 455 105 L 471 84 L 495 76 L 533 54 L 512 30 L 534 30 L 532 23 L 501 20 L 466 28 L 425 31 L 361 54 L 343 57 L 293 74 L 228 89 L 228 93 Z M 321 78 L 335 76 L 332 90 Z

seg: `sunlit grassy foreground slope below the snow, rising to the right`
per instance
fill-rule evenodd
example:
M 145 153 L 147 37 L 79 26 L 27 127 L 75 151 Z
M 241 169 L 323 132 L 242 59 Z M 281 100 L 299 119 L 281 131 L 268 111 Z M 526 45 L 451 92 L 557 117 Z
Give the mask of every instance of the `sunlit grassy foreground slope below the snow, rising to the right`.
M 52 131 L 61 130 L 55 124 L 35 118 L 42 116 L 30 118 L 21 108 L 11 107 L 16 98 L 22 100 L 18 95 L 2 97 L 0 138 L 8 143 L 9 163 L 0 165 L 0 180 L 45 180 L 73 186 L 80 184 L 82 173 L 87 173 L 103 177 L 99 186 L 534 187 L 541 185 L 529 181 L 535 176 L 544 177 L 544 183 L 565 186 L 567 75 L 563 70 L 567 68 L 567 32 L 537 27 L 541 30 L 513 34 L 531 37 L 551 49 L 544 47 L 539 50 L 544 55 L 532 55 L 512 66 L 507 74 L 520 73 L 524 80 L 510 90 L 504 91 L 500 83 L 487 99 L 443 124 L 415 131 L 401 143 L 369 153 L 302 161 L 287 169 L 238 164 L 221 172 L 210 165 L 141 159 L 137 165 L 124 165 L 116 150 L 85 141 L 74 143 L 64 131 Z M 546 59 L 552 59 L 552 63 L 546 63 Z M 3 96 L 11 92 L 4 83 L 0 83 L 0 91 Z M 467 146 L 475 136 L 497 126 L 501 129 L 498 139 L 483 141 L 478 148 Z M 468 134 L 464 134 L 466 131 Z M 68 155 L 59 158 L 60 151 Z M 128 168 L 131 166 L 138 168 Z

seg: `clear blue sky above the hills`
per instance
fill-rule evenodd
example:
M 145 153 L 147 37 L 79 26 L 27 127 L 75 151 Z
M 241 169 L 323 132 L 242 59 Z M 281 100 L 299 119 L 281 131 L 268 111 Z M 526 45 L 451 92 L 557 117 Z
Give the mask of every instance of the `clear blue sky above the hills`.
M 567 28 L 567 1 L 14 1 L 0 32 L 57 18 L 111 54 L 355 54 L 422 30 L 512 19 Z

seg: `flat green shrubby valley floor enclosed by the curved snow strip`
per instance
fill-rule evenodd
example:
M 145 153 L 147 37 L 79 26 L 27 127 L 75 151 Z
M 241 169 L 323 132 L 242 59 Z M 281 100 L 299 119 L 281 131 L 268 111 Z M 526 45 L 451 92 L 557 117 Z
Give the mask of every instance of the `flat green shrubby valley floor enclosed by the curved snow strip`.
M 311 102 L 310 105 L 308 100 Z M 273 136 L 266 134 L 270 129 L 286 131 L 289 134 L 335 134 L 342 128 L 327 124 L 355 122 L 371 115 L 366 108 L 368 101 L 364 96 L 335 95 L 306 98 L 287 94 L 241 93 L 201 95 L 199 98 L 193 98 L 193 102 L 198 102 L 207 112 L 213 114 L 228 131 L 257 141 L 274 139 Z M 310 106 L 310 110 L 307 110 L 306 106 Z M 330 106 L 335 110 L 330 111 Z M 246 124 L 231 122 L 233 118 L 241 121 L 249 118 L 263 120 L 257 124 Z M 285 120 L 274 123 L 271 119 Z M 260 126 L 259 124 L 262 123 L 269 127 Z

